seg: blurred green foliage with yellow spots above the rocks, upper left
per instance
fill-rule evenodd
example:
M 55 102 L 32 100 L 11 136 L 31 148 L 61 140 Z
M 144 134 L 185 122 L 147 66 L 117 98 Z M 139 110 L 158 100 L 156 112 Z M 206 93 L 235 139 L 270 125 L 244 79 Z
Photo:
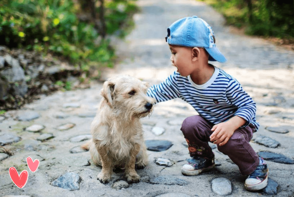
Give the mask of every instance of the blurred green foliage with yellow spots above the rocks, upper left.
M 102 62 L 112 65 L 113 48 L 103 39 L 93 22 L 81 16 L 89 11 L 85 0 L 0 0 L 0 45 L 26 48 L 63 56 L 76 65 Z M 123 37 L 136 11 L 131 0 L 105 0 L 106 34 Z M 96 12 L 101 7 L 96 2 Z M 97 14 L 98 15 L 98 14 Z M 101 18 L 99 18 L 102 20 Z

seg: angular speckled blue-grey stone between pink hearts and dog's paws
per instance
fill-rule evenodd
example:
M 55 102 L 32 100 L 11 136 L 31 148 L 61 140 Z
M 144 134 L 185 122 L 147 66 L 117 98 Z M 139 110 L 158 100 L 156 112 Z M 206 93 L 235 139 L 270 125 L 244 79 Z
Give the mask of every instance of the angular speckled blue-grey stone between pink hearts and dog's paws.
M 60 176 L 58 179 L 51 182 L 51 185 L 68 189 L 69 191 L 79 190 L 79 183 L 81 182 L 81 177 L 74 172 L 67 172 Z

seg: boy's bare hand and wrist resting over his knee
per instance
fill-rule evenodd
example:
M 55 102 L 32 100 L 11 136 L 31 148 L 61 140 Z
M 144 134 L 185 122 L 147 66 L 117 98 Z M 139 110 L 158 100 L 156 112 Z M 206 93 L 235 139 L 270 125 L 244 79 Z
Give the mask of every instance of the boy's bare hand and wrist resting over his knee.
M 226 122 L 215 124 L 211 129 L 213 133 L 210 136 L 210 141 L 213 142 L 213 144 L 218 144 L 219 146 L 225 145 L 235 130 L 245 123 L 245 119 L 239 116 L 233 116 Z

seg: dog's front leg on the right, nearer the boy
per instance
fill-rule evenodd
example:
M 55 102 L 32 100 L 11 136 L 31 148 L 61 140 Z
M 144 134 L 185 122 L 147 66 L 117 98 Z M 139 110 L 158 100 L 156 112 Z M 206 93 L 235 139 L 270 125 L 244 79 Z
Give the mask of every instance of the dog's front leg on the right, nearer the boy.
M 140 176 L 135 170 L 136 156 L 140 151 L 140 144 L 135 144 L 130 151 L 130 158 L 126 163 L 126 177 L 128 182 L 138 183 L 140 181 Z

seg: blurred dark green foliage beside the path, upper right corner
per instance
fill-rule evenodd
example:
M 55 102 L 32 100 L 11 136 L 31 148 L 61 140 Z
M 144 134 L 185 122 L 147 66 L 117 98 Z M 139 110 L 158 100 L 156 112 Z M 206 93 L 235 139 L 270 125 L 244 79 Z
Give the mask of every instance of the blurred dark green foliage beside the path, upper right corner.
M 202 1 L 222 13 L 228 25 L 245 27 L 248 34 L 294 38 L 294 1 L 289 1 L 290 3 L 280 0 Z

